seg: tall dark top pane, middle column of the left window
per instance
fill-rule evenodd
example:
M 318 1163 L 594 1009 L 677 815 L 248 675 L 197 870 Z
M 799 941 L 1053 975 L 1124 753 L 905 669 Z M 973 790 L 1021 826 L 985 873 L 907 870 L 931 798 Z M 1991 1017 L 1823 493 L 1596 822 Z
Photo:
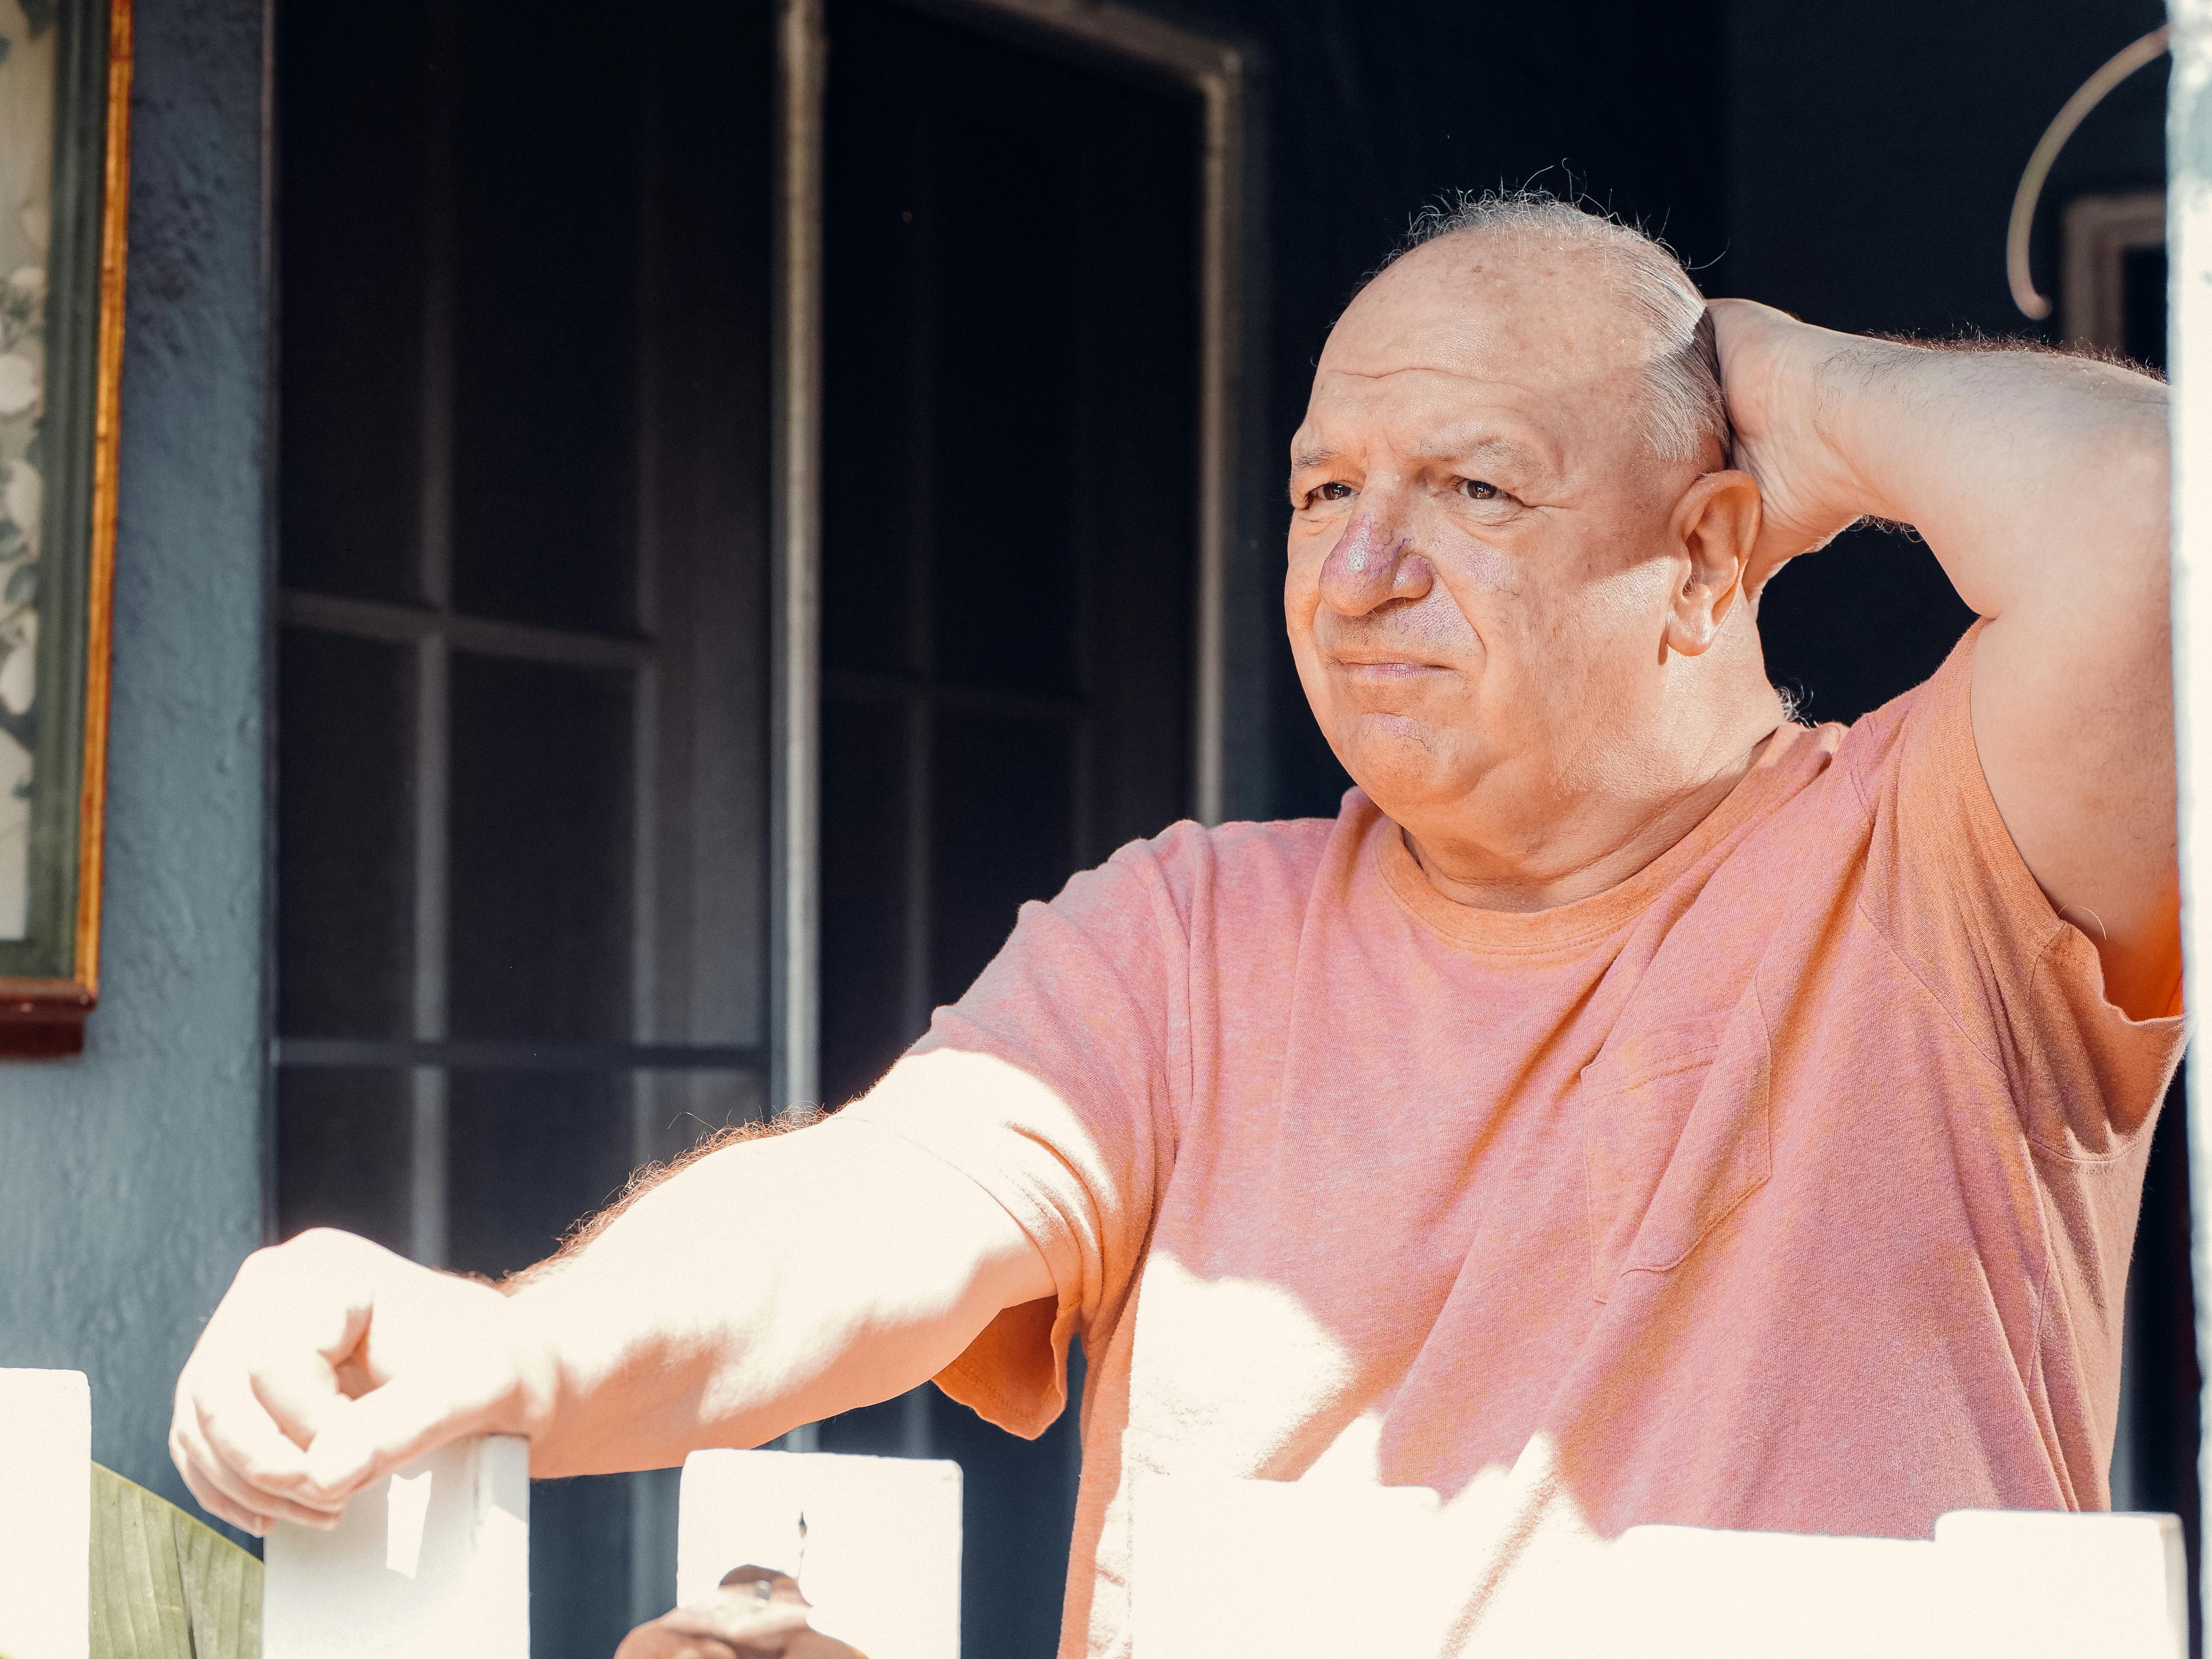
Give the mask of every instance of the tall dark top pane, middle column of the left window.
M 615 15 L 467 0 L 456 150 L 453 604 L 635 613 L 639 46 Z

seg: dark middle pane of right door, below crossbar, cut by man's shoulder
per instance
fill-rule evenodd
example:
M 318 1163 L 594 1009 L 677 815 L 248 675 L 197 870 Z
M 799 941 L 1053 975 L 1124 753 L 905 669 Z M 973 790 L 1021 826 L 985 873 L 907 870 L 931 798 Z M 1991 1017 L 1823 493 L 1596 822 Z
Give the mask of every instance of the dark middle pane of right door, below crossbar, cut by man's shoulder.
M 1026 898 L 1075 872 L 1073 730 L 993 714 L 938 717 L 929 847 L 929 984 L 953 1002 L 1013 931 Z

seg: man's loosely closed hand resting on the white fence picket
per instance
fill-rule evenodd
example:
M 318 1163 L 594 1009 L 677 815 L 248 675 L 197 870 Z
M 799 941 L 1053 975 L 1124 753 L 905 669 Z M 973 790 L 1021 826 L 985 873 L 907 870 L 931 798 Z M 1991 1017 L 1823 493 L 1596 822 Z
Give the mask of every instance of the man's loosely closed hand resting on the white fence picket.
M 239 1267 L 177 1378 L 168 1451 L 232 1526 L 332 1526 L 356 1491 L 425 1451 L 526 1433 L 540 1371 L 491 1285 L 303 1232 Z

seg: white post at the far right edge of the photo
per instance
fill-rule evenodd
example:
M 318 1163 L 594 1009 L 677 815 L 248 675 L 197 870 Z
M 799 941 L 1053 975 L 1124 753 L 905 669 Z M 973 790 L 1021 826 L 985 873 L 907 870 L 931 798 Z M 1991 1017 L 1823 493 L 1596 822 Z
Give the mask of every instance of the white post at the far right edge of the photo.
M 2181 761 L 2181 949 L 2194 1006 L 2212 987 L 2212 0 L 2170 0 L 2168 369 L 2174 385 L 2174 717 Z M 2190 1066 L 2190 1263 L 2197 1354 L 2212 1356 L 2212 1055 Z M 2205 1367 L 2212 1391 L 2212 1367 Z M 2212 1398 L 2212 1394 L 2208 1394 Z M 2212 1493 L 2212 1438 L 2199 1458 Z M 2205 1555 L 2212 1562 L 2212 1551 Z M 2212 1595 L 2205 1597 L 2212 1604 Z

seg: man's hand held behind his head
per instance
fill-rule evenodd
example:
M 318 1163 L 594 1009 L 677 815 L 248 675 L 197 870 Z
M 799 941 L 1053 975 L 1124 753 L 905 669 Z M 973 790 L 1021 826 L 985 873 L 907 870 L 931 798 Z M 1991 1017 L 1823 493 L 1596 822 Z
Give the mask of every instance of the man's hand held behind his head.
M 1759 540 L 1743 573 L 1745 593 L 1756 595 L 1783 564 L 1827 546 L 1867 511 L 1820 416 L 1827 369 L 1876 343 L 1747 299 L 1717 299 L 1708 310 L 1734 465 L 1759 480 Z

